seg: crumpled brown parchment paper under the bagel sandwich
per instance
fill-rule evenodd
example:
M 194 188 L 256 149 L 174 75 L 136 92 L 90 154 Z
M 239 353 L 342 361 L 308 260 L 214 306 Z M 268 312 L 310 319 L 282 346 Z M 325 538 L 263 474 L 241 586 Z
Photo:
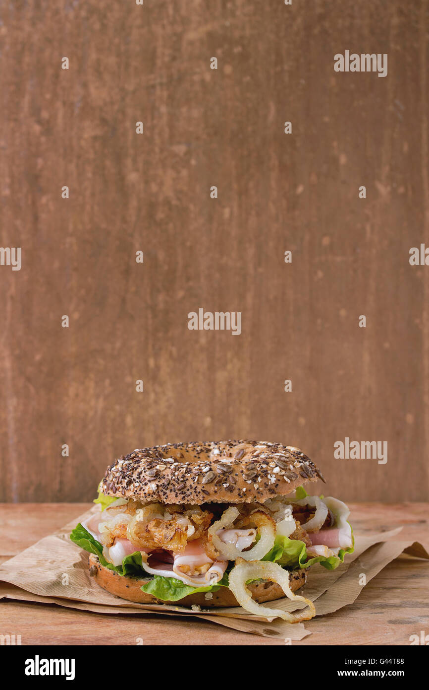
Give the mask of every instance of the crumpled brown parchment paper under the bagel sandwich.
M 96 613 L 127 613 L 145 616 L 182 615 L 196 617 L 242 632 L 269 637 L 302 640 L 311 631 L 304 624 L 290 624 L 281 618 L 256 616 L 242 607 L 222 609 L 189 609 L 172 604 L 134 604 L 101 589 L 90 578 L 86 551 L 70 541 L 70 531 L 91 511 L 76 517 L 56 533 L 41 539 L 0 566 L 0 598 L 45 602 Z M 309 571 L 307 584 L 300 590 L 315 602 L 316 615 L 326 615 L 351 604 L 364 584 L 397 556 L 406 552 L 418 558 L 429 558 L 417 542 L 397 540 L 401 527 L 373 535 L 355 535 L 355 551 L 346 556 L 335 571 L 316 565 Z M 362 578 L 365 575 L 365 578 Z M 267 602 L 268 607 L 296 611 L 300 606 L 284 598 Z M 264 606 L 264 604 L 262 604 Z M 311 626 L 311 622 L 307 622 Z

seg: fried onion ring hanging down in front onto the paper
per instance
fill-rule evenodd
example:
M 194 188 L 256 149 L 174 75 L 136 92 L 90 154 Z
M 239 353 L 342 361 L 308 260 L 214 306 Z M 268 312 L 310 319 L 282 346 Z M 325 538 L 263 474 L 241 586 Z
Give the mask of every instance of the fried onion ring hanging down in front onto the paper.
M 252 599 L 251 591 L 246 584 L 249 580 L 255 579 L 277 582 L 277 584 L 280 584 L 286 597 L 289 597 L 294 602 L 304 602 L 307 604 L 308 610 L 304 609 L 300 613 L 289 613 L 289 611 L 282 611 L 282 609 L 262 607 Z M 313 602 L 294 594 L 291 590 L 289 571 L 284 570 L 277 563 L 271 563 L 271 561 L 240 561 L 229 573 L 229 589 L 231 589 L 231 592 L 243 609 L 264 618 L 283 618 L 283 620 L 289 623 L 299 623 L 302 620 L 310 620 L 316 613 Z

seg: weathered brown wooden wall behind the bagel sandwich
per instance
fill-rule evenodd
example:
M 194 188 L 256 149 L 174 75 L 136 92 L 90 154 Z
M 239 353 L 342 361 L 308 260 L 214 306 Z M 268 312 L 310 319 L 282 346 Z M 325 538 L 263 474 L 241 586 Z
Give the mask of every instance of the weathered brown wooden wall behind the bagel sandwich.
M 428 0 L 0 19 L 1 246 L 22 249 L 0 266 L 0 500 L 90 500 L 136 447 L 240 437 L 302 447 L 345 500 L 425 500 Z M 345 50 L 388 76 L 334 72 Z M 200 307 L 241 335 L 189 331 Z M 345 437 L 388 463 L 335 460 Z

